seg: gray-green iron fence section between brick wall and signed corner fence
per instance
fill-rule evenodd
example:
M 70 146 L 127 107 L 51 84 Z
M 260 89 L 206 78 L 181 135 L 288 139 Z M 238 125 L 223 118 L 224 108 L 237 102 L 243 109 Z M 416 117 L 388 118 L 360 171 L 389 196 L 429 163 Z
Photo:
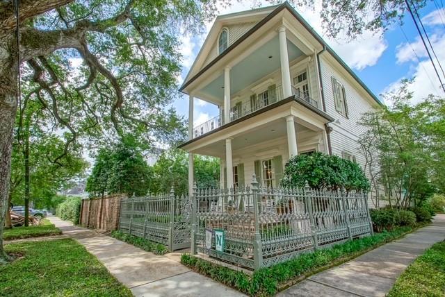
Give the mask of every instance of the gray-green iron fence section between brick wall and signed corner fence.
M 191 242 L 187 196 L 169 195 L 122 199 L 119 230 L 168 246 L 170 251 L 188 248 Z

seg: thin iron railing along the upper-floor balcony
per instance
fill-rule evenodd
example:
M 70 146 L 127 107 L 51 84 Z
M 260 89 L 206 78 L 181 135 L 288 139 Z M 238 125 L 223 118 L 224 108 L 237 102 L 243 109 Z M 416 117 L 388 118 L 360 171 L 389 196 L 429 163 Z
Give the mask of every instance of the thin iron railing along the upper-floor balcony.
M 314 108 L 318 108 L 318 102 L 312 99 L 309 94 L 300 92 L 300 90 L 296 89 L 295 87 L 292 87 L 292 94 L 298 97 L 298 99 L 301 99 L 314 106 Z M 272 105 L 273 103 L 276 103 L 278 101 L 282 101 L 283 99 L 283 88 L 281 85 L 278 85 L 273 89 L 268 89 L 266 92 L 263 92 L 261 94 L 245 98 L 241 102 L 236 103 L 236 105 L 230 109 L 230 121 L 235 121 L 236 119 L 245 117 L 252 112 L 261 110 L 261 108 L 265 108 L 266 106 Z M 209 119 L 209 121 L 195 126 L 193 128 L 192 138 L 196 138 L 209 133 L 211 130 L 219 128 L 224 124 L 224 114 L 213 117 L 212 119 Z

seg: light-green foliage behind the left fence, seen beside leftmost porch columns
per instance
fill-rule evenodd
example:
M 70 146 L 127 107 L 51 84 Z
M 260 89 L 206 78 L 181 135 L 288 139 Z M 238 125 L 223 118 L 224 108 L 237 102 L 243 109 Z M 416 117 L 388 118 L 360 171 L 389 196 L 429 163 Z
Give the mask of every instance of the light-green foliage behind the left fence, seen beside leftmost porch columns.
M 175 188 L 176 194 L 188 193 L 188 153 L 172 148 L 159 156 L 153 165 L 153 179 L 149 191 L 153 194 L 168 193 Z M 217 187 L 220 178 L 219 160 L 195 155 L 194 172 L 197 187 Z

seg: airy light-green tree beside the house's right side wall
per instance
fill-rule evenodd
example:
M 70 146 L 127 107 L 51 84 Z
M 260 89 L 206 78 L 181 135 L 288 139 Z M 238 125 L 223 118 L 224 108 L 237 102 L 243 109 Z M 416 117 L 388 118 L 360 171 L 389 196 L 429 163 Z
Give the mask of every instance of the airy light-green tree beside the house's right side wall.
M 397 208 L 421 205 L 445 189 L 445 100 L 435 97 L 412 104 L 410 82 L 385 95 L 388 108 L 364 114 L 359 144 L 373 181 L 375 205 L 385 200 Z

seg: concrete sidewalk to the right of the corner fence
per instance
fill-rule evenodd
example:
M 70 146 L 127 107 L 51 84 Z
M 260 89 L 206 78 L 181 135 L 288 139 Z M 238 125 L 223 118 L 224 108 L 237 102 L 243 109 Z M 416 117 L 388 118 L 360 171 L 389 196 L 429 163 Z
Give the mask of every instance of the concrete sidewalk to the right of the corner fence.
M 416 257 L 444 239 L 445 214 L 437 214 L 432 225 L 312 275 L 278 296 L 385 296 Z

